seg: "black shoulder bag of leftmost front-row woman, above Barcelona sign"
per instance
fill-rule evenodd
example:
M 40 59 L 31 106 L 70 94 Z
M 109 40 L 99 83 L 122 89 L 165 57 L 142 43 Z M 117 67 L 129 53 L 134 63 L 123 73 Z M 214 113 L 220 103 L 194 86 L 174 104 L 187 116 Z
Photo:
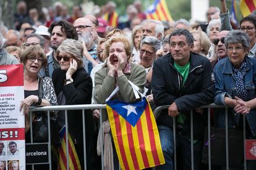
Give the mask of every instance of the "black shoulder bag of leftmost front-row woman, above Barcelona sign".
M 38 91 L 39 96 L 43 96 L 43 89 L 41 86 L 42 79 L 39 79 Z M 50 133 L 51 144 L 59 144 L 59 126 L 57 123 L 58 111 L 50 111 Z M 48 115 L 45 111 L 36 111 L 33 119 L 33 142 L 48 142 Z

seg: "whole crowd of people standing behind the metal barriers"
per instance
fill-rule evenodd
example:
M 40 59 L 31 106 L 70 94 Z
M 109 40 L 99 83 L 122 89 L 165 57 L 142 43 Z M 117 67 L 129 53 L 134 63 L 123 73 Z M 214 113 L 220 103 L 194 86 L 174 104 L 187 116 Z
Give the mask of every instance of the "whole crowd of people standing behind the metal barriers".
M 152 108 L 169 105 L 156 117 L 165 160 L 156 169 L 174 169 L 174 118 L 177 167 L 192 168 L 190 110 L 194 117 L 194 169 L 207 169 L 202 164 L 208 116 L 207 110 L 200 108 L 203 105 L 228 107 L 228 128 L 239 131 L 246 127 L 246 139 L 256 139 L 256 15 L 242 18 L 236 26 L 229 20 L 225 0 L 220 0 L 220 9 L 207 10 L 207 22 L 193 24 L 182 18 L 176 22 L 147 19 L 140 1 L 127 7 L 126 17 L 118 16 L 115 8 L 111 1 L 101 8 L 95 6 L 95 14 L 83 15 L 82 8 L 74 6 L 69 15 L 67 7 L 56 2 L 43 8 L 45 18 L 39 20 L 38 11 L 30 9 L 27 14 L 25 2 L 20 1 L 14 16 L 16 30 L 1 26 L 0 65 L 24 65 L 25 99 L 20 111 L 25 115 L 26 142 L 31 140 L 31 106 L 106 103 L 117 86 L 119 92 L 111 100 L 133 103 L 138 99 L 130 82 L 146 95 Z M 88 169 L 99 169 L 100 110 L 86 112 L 87 160 L 83 158 L 81 110 L 68 111 L 69 133 L 81 166 L 86 161 Z M 213 126 L 225 128 L 225 108 L 211 112 Z M 104 135 L 109 136 L 106 110 L 101 114 Z M 32 114 L 33 123 L 38 115 Z M 60 130 L 65 114 L 59 111 L 54 119 Z M 112 144 L 110 140 L 105 147 Z M 113 160 L 105 156 L 106 167 L 118 169 L 116 152 L 111 152 Z M 244 164 L 230 166 L 244 169 Z M 226 167 L 213 164 L 212 169 Z M 247 169 L 256 169 L 256 162 L 248 160 Z

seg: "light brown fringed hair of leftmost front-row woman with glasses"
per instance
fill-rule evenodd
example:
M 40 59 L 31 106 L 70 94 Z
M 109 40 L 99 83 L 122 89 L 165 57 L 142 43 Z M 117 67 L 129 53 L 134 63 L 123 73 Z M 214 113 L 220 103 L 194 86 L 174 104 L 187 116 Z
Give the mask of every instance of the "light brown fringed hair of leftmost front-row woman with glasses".
M 22 51 L 22 54 L 20 55 L 20 62 L 23 63 L 23 65 L 25 65 L 27 63 L 27 60 L 30 57 L 37 57 L 37 56 L 43 59 L 42 67 L 45 68 L 47 65 L 47 57 L 45 55 L 45 52 L 40 46 L 30 46 L 24 49 Z

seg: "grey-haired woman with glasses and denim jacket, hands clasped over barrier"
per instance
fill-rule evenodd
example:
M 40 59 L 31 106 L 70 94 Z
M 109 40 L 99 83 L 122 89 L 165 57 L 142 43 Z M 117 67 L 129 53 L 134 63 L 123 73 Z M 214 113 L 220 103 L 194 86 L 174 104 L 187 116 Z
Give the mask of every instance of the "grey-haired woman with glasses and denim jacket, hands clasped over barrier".
M 213 70 L 215 103 L 231 107 L 228 108 L 229 129 L 239 130 L 245 126 L 246 138 L 256 139 L 256 60 L 247 56 L 249 36 L 244 31 L 234 30 L 228 33 L 224 42 L 228 57 L 220 60 Z M 215 112 L 216 127 L 225 128 L 224 113 L 224 108 Z M 255 161 L 247 161 L 247 169 L 256 169 Z

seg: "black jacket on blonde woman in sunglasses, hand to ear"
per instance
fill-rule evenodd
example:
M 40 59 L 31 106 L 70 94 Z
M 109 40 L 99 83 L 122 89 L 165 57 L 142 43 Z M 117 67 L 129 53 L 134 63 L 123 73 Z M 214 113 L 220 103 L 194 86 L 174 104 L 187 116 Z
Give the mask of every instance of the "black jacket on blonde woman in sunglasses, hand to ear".
M 82 105 L 92 103 L 92 78 L 86 73 L 85 69 L 79 68 L 72 75 L 74 83 L 64 86 L 64 79 L 66 79 L 66 71 L 61 68 L 56 68 L 53 71 L 53 85 L 56 95 L 63 92 L 66 97 L 66 105 Z M 63 116 L 63 115 L 62 115 Z M 75 148 L 83 164 L 83 124 L 82 124 L 82 110 L 70 110 L 67 114 L 68 129 L 72 138 L 74 139 Z M 88 151 L 91 145 L 91 139 L 94 131 L 93 118 L 91 111 L 85 111 L 85 135 L 87 145 L 87 161 L 90 156 Z

